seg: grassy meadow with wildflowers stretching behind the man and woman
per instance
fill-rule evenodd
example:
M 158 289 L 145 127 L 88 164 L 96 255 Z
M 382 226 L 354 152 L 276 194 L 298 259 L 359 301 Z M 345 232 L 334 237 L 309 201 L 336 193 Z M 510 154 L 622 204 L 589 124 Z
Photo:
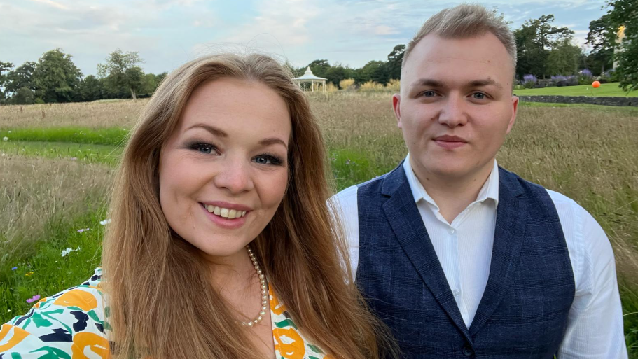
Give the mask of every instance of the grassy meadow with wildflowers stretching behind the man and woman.
M 0 322 L 99 265 L 106 192 L 147 100 L 0 107 Z M 405 157 L 387 94 L 313 94 L 338 189 Z M 42 113 L 44 112 L 44 115 Z M 616 254 L 638 359 L 638 109 L 523 104 L 499 164 L 588 209 Z M 87 230 L 88 229 L 88 230 Z M 65 248 L 80 248 L 62 257 Z M 15 268 L 15 269 L 14 269 Z

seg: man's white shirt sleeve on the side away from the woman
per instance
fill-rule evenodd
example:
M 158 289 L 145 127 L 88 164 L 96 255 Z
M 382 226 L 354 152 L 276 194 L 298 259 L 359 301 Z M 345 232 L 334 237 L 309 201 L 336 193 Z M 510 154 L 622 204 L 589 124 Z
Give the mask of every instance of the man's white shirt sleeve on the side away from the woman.
M 626 359 L 616 262 L 596 220 L 572 199 L 548 191 L 562 225 L 576 294 L 558 359 Z

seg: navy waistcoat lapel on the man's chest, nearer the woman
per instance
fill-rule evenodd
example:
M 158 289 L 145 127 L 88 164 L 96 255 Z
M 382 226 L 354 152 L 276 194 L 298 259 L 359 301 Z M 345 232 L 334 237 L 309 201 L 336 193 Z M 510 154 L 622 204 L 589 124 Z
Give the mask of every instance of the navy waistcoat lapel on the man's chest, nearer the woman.
M 402 164 L 384 178 L 382 194 L 390 197 L 383 204 L 382 209 L 405 255 L 441 308 L 450 316 L 464 337 L 471 342 L 469 331 L 448 281 L 445 279 L 441 262 L 438 261 L 434 246 L 417 209 Z

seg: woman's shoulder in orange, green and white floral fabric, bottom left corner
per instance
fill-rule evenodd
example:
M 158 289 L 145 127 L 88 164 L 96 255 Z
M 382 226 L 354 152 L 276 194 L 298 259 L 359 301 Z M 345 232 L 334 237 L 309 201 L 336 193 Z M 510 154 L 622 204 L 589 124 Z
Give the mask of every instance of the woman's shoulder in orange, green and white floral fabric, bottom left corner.
M 109 353 L 102 269 L 79 286 L 43 298 L 24 316 L 0 327 L 0 357 L 71 358 L 90 351 L 102 358 Z

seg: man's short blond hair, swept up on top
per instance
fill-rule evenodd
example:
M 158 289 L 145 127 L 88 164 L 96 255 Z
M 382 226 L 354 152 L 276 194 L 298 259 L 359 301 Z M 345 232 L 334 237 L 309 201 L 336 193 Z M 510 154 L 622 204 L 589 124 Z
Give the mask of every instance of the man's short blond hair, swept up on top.
M 473 38 L 487 32 L 497 36 L 503 43 L 515 71 L 516 41 L 503 16 L 497 15 L 496 10 L 490 11 L 484 6 L 469 3 L 443 9 L 430 17 L 405 48 L 401 66 L 405 66 L 412 49 L 428 34 L 436 34 L 442 38 Z

